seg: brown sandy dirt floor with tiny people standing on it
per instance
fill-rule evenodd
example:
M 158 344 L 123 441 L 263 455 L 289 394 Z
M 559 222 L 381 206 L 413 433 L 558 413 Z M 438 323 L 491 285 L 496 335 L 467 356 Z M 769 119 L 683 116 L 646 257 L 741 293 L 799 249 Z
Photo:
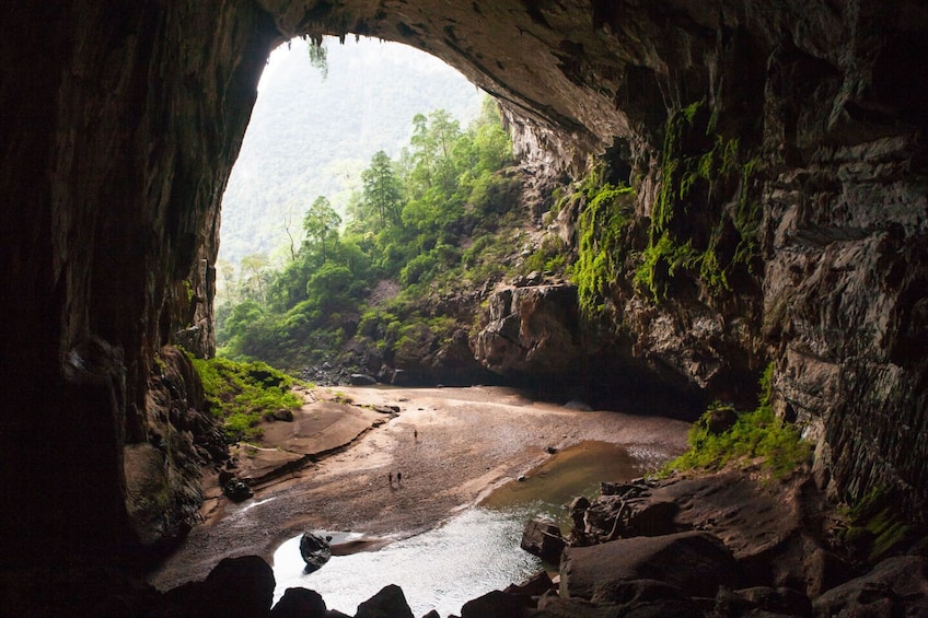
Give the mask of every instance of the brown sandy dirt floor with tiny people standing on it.
M 279 427 L 268 432 L 260 452 L 289 462 L 293 457 L 275 453 L 301 444 L 318 460 L 258 483 L 255 497 L 241 504 L 229 502 L 213 479 L 205 479 L 210 489 L 204 523 L 151 573 L 151 583 L 166 590 L 201 580 L 225 557 L 254 553 L 270 561 L 278 545 L 306 529 L 364 533 L 372 546 L 407 537 L 530 473 L 549 456 L 548 447 L 613 442 L 646 468 L 682 452 L 688 429 L 661 417 L 532 401 L 501 387 L 344 386 L 320 388 L 313 396 L 322 400 L 304 408 L 303 423 L 275 423 Z M 333 407 L 334 398 L 355 406 Z M 386 405 L 398 406 L 399 412 L 372 410 Z M 255 451 L 251 458 L 259 459 Z M 240 453 L 245 467 L 248 459 Z

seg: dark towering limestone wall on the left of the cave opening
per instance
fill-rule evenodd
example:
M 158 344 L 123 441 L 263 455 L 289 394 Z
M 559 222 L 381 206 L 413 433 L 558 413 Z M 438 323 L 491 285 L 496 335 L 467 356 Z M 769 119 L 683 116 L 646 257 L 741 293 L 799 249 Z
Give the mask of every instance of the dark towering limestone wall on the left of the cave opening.
M 3 560 L 128 556 L 124 448 L 153 440 L 174 331 L 209 352 L 219 202 L 278 35 L 235 1 L 7 5 L 0 24 Z

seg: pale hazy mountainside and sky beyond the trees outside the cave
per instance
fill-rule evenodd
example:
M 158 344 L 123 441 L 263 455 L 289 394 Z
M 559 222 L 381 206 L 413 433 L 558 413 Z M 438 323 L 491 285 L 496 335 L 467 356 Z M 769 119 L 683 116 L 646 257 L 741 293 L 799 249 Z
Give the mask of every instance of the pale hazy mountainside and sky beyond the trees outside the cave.
M 368 38 L 324 46 L 327 77 L 299 39 L 270 56 L 223 197 L 220 261 L 285 246 L 286 221 L 299 234 L 317 196 L 344 213 L 371 156 L 397 155 L 417 113 L 443 108 L 466 124 L 479 112 L 483 92 L 419 50 Z

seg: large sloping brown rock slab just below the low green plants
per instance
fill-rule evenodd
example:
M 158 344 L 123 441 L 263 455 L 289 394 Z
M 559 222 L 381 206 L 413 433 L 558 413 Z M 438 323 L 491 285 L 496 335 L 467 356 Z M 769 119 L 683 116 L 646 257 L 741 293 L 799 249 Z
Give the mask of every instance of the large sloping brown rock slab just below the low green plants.
M 807 515 L 825 509 L 808 474 L 758 481 L 741 473 L 704 473 L 606 489 L 578 517 L 584 527 L 572 536 L 581 544 L 698 529 L 724 543 L 745 586 L 787 586 L 815 596 L 846 576 Z

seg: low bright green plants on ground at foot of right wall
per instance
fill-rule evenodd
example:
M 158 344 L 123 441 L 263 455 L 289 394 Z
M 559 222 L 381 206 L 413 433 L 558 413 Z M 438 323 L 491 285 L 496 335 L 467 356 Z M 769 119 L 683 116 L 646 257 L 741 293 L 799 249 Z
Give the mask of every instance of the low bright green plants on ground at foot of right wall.
M 768 366 L 761 378 L 756 409 L 739 412 L 730 429 L 712 433 L 709 419 L 726 406 L 718 401 L 709 406 L 689 429 L 688 450 L 668 463 L 662 474 L 688 469 L 716 470 L 732 462 L 753 464 L 759 458 L 765 469 L 780 478 L 808 462 L 811 456 L 809 443 L 801 439 L 794 425 L 776 418 L 770 408 L 772 368 Z

